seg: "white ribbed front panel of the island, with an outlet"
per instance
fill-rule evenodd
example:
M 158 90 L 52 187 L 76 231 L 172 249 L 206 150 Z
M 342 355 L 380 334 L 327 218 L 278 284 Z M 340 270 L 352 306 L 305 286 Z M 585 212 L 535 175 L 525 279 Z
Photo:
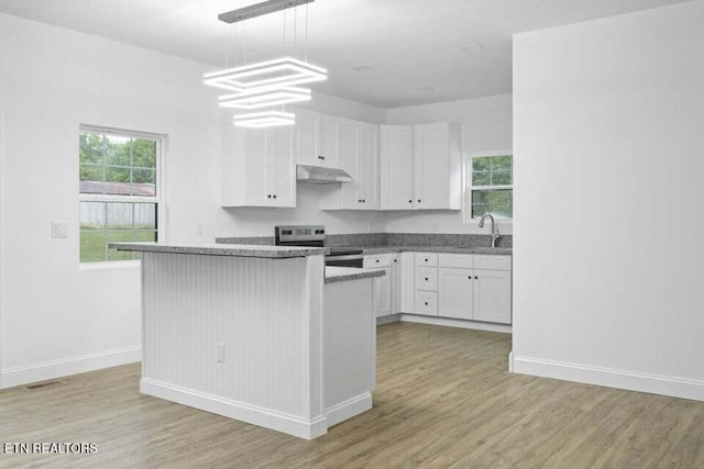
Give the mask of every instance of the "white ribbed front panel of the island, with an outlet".
M 143 253 L 142 270 L 142 392 L 305 438 L 326 433 L 321 256 Z

